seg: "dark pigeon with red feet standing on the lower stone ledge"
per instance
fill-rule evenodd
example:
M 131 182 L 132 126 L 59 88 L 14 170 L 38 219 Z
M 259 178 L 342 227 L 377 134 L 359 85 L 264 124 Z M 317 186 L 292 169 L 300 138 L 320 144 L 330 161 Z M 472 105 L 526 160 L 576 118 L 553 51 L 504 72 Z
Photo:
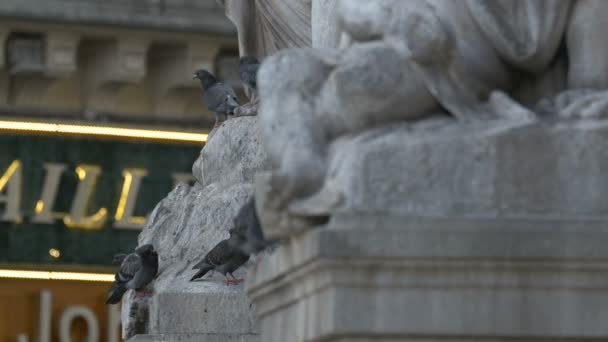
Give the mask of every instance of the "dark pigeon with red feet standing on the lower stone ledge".
M 226 278 L 226 285 L 238 284 L 243 281 L 243 279 L 235 278 L 232 273 L 249 260 L 249 255 L 238 248 L 232 247 L 233 244 L 230 240 L 236 238 L 235 229 L 231 228 L 229 232 L 230 237 L 228 239 L 220 241 L 205 255 L 203 260 L 192 267 L 192 269 L 198 269 L 198 272 L 190 281 L 203 277 L 209 271 L 221 273 Z M 228 279 L 226 275 L 229 275 L 232 279 Z

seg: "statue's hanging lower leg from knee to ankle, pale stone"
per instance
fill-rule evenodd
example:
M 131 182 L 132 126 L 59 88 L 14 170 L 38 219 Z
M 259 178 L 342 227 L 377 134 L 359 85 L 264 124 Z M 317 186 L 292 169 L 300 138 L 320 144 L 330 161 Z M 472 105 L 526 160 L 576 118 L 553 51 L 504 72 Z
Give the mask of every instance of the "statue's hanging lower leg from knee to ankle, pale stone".
M 328 53 L 285 50 L 258 73 L 262 142 L 273 164 L 268 206 L 284 208 L 306 197 L 325 175 L 326 128 L 316 120 L 316 99 L 333 68 Z

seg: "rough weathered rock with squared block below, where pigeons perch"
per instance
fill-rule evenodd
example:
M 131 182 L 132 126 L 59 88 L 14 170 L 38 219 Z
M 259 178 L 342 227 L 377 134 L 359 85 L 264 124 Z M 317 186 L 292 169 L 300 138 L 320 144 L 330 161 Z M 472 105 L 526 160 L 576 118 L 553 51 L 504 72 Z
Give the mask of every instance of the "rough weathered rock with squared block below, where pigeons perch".
M 228 237 L 232 219 L 253 193 L 255 171 L 265 167 L 256 119 L 236 118 L 216 130 L 193 166 L 199 182 L 178 185 L 151 213 L 139 243 L 152 243 L 159 254 L 154 294 L 146 298 L 147 321 L 141 341 L 255 341 L 257 324 L 243 286 L 227 286 L 221 275 L 190 282 L 192 266 Z M 204 169 L 204 171 L 203 171 Z M 244 277 L 245 269 L 235 272 Z M 123 302 L 130 312 L 130 301 Z M 123 317 L 128 315 L 123 314 Z M 123 319 L 133 326 L 141 317 Z M 203 338 L 204 337 L 204 338 Z

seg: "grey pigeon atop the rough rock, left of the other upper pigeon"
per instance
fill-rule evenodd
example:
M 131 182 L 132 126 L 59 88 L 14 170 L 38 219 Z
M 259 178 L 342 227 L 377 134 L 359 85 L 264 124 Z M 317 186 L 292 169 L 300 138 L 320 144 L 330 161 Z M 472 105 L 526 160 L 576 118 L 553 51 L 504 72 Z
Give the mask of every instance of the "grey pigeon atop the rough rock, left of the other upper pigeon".
M 231 86 L 218 82 L 213 74 L 203 69 L 197 70 L 192 79 L 201 81 L 203 101 L 215 117 L 213 128 L 217 127 L 220 116 L 227 119 L 228 115 L 234 114 L 234 110 L 239 106 L 239 103 Z

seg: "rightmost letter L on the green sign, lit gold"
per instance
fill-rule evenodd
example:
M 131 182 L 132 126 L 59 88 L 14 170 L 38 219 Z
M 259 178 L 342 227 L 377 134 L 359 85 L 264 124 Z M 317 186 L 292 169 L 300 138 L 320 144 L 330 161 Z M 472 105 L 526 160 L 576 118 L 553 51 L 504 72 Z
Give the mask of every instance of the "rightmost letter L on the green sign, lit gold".
M 135 210 L 141 179 L 147 174 L 148 171 L 143 169 L 124 169 L 122 171 L 125 180 L 122 183 L 118 206 L 116 206 L 114 227 L 124 229 L 142 229 L 144 227 L 146 218 L 133 216 L 133 211 Z

